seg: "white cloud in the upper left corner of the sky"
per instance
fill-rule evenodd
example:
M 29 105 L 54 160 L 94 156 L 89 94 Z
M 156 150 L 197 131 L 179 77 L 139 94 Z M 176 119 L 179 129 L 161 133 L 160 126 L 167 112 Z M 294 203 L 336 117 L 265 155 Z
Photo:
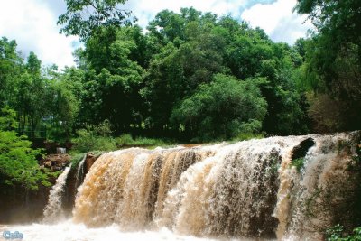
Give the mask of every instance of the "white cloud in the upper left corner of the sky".
M 33 51 L 45 65 L 74 65 L 72 51 L 77 38 L 59 33 L 57 17 L 39 0 L 4 1 L 0 8 L 0 36 L 14 39 L 23 57 Z

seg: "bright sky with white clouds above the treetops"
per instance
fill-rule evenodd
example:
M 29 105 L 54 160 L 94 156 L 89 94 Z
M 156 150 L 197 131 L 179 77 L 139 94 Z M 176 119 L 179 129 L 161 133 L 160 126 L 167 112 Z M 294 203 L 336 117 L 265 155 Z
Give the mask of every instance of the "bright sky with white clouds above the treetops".
M 143 28 L 163 9 L 179 13 L 181 7 L 193 6 L 219 16 L 230 14 L 252 27 L 261 27 L 274 42 L 292 44 L 305 37 L 311 28 L 306 17 L 293 13 L 297 0 L 128 0 L 124 9 L 131 10 Z M 0 37 L 15 40 L 26 58 L 30 51 L 43 65 L 56 64 L 62 69 L 73 66 L 72 52 L 80 43 L 75 36 L 65 37 L 56 24 L 65 13 L 64 0 L 7 0 L 0 7 Z

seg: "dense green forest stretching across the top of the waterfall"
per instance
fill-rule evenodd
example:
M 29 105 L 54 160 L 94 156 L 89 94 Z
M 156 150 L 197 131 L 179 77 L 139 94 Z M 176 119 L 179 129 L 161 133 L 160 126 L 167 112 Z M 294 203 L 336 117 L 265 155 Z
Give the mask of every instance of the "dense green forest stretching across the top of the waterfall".
M 24 60 L 15 40 L 0 40 L 6 185 L 43 180 L 42 172 L 18 180 L 9 164 L 26 170 L 41 154 L 22 134 L 84 146 L 79 138 L 185 143 L 361 129 L 358 0 L 298 0 L 295 11 L 308 14 L 315 29 L 292 46 L 194 8 L 163 10 L 144 30 L 116 9 L 124 1 L 94 1 L 86 20 L 79 11 L 88 4 L 66 2 L 58 23 L 83 43 L 74 51 L 76 67 L 44 67 L 33 52 Z M 91 148 L 103 146 L 83 149 Z

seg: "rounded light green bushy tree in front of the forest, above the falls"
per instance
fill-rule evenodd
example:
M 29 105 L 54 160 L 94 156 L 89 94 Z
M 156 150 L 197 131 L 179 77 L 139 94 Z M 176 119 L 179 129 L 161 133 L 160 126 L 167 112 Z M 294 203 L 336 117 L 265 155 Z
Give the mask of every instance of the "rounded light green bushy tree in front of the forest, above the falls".
M 191 97 L 180 102 L 172 113 L 174 123 L 201 140 L 232 138 L 240 133 L 256 133 L 267 104 L 258 84 L 264 79 L 240 81 L 218 74 L 208 85 L 201 85 Z

